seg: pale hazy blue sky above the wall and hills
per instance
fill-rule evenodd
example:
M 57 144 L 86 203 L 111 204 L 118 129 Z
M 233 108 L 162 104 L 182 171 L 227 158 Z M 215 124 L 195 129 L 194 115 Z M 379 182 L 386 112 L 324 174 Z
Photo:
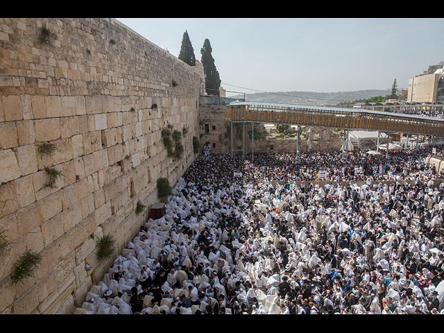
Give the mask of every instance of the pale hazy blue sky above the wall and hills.
M 223 87 L 268 92 L 387 89 L 444 60 L 444 19 L 119 19 L 180 52 L 188 31 L 196 59 L 205 38 Z M 246 90 L 245 92 L 250 92 Z

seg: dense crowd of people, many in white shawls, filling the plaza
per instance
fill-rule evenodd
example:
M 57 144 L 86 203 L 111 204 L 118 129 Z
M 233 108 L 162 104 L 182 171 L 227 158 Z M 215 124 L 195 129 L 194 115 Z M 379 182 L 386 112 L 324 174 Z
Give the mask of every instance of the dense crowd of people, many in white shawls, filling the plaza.
M 444 182 L 423 174 L 428 149 L 201 154 L 76 313 L 442 314 Z

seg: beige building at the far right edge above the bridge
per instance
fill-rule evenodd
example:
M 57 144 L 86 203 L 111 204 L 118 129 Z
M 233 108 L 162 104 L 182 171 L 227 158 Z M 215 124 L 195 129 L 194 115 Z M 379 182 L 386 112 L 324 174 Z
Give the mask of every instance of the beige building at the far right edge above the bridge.
M 422 75 L 409 79 L 409 102 L 444 102 L 444 62 L 429 66 Z

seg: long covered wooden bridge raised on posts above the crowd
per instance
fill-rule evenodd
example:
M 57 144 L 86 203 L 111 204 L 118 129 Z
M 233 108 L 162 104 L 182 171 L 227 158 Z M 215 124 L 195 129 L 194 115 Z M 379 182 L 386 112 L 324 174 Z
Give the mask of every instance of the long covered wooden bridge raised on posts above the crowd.
M 384 133 L 444 135 L 444 119 L 373 110 L 327 108 L 281 103 L 234 102 L 227 120 L 323 126 Z

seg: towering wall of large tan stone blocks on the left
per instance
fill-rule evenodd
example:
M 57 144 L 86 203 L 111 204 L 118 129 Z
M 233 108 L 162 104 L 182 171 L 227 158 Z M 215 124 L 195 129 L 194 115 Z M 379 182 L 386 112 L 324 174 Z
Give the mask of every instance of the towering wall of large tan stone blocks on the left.
M 157 178 L 174 185 L 194 160 L 199 85 L 194 67 L 114 19 L 0 19 L 0 314 L 83 302 L 113 259 L 99 262 L 96 240 L 123 248 L 147 218 L 137 200 L 155 203 Z M 168 124 L 189 130 L 178 160 L 162 144 Z M 56 152 L 40 155 L 42 142 Z M 53 188 L 46 167 L 62 172 Z M 12 284 L 26 249 L 42 263 Z

